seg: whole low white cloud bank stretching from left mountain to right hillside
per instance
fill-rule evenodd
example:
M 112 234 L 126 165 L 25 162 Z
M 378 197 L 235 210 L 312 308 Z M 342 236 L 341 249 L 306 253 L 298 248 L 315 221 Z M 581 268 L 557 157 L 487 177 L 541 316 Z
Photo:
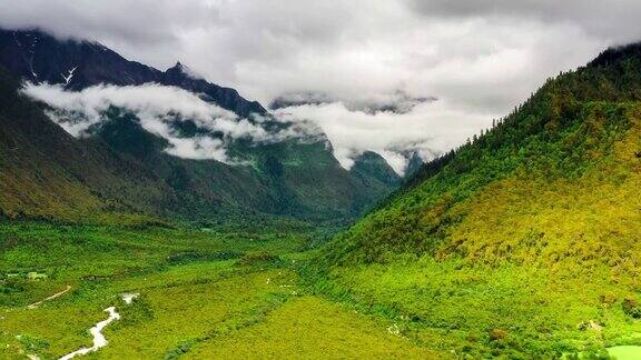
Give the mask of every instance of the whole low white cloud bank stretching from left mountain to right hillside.
M 305 141 L 319 140 L 325 134 L 344 168 L 349 169 L 363 152 L 375 151 L 402 174 L 408 151 L 430 160 L 487 127 L 486 117 L 453 111 L 440 100 L 416 103 L 403 112 L 372 112 L 354 109 L 342 101 L 292 106 L 274 112 L 279 121 L 289 126 L 279 132 L 268 132 L 260 126 L 263 119 L 250 122 L 189 91 L 155 83 L 96 86 L 81 91 L 26 83 L 22 92 L 51 106 L 50 118 L 75 137 L 88 136 L 93 126 L 106 120 L 105 111 L 116 107 L 132 112 L 145 130 L 166 139 L 169 143 L 166 152 L 226 163 L 236 163 L 227 154 L 227 146 L 234 139 L 273 142 L 297 138 Z M 198 128 L 223 133 L 223 138 L 180 137 L 171 127 L 177 119 L 191 120 Z

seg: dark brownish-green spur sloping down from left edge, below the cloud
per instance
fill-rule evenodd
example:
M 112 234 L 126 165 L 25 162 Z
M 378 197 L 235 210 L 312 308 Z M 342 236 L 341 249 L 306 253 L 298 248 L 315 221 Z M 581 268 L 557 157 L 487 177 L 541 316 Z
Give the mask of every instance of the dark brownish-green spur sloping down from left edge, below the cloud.
M 0 67 L 0 213 L 96 219 L 171 207 L 156 174 L 100 141 L 78 140 L 51 122 Z

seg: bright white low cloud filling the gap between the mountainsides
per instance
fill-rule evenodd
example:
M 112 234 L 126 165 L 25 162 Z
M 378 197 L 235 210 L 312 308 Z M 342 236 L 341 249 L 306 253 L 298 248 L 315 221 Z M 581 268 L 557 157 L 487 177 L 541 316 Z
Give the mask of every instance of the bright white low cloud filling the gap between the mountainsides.
M 349 109 L 344 102 L 327 102 L 280 108 L 275 114 L 282 121 L 312 123 L 322 129 L 334 156 L 346 169 L 363 152 L 374 151 L 400 174 L 405 172 L 412 153 L 431 160 L 492 122 L 485 114 L 456 111 L 441 100 L 423 102 L 404 113 L 372 113 Z

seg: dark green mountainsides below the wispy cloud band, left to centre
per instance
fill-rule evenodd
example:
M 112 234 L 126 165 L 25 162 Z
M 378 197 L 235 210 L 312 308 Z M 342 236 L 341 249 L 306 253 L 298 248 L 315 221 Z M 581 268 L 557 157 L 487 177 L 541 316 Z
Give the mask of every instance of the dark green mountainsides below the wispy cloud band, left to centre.
M 91 137 L 73 138 L 19 93 L 0 67 L 0 216 L 75 222 L 164 218 L 218 226 L 346 223 L 397 181 L 341 167 L 324 142 L 235 144 L 243 166 L 165 152 L 166 140 L 110 108 Z M 393 179 L 397 180 L 397 179 Z M 125 219 L 127 218 L 127 219 Z M 145 220 L 147 219 L 147 220 Z

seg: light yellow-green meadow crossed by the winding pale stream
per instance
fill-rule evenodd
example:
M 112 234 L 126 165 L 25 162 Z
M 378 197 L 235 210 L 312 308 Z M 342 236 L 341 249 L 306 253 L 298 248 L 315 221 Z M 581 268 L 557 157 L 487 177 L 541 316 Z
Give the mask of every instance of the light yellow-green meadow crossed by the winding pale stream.
M 57 358 L 90 346 L 87 330 L 107 317 L 102 309 L 115 304 L 122 319 L 105 329 L 109 346 L 96 356 L 164 358 L 274 304 L 284 297 L 280 284 L 292 282 L 292 277 L 285 270 L 243 269 L 234 261 L 216 261 L 81 286 L 37 309 L 7 309 L 2 321 L 8 337 L 3 340 L 17 348 L 27 344 L 24 350 L 43 359 Z M 267 279 L 273 280 L 267 283 Z M 139 298 L 126 304 L 120 300 L 125 292 L 137 292 Z

